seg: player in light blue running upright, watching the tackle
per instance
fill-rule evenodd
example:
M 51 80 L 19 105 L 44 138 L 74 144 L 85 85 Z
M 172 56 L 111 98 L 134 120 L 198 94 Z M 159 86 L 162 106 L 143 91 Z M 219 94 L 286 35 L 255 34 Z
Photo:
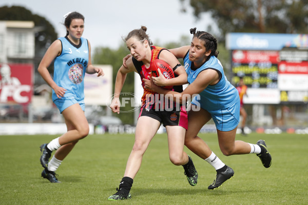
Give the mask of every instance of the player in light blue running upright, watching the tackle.
M 59 183 L 55 171 L 75 144 L 89 133 L 89 125 L 84 114 L 84 76 L 85 73 L 104 75 L 102 68 L 91 64 L 91 47 L 87 39 L 82 38 L 84 16 L 70 12 L 65 16 L 65 37 L 56 39 L 46 51 L 38 72 L 52 88 L 52 100 L 62 113 L 67 132 L 41 145 L 42 177 L 52 183 Z M 54 60 L 53 78 L 48 67 Z M 55 154 L 49 161 L 52 151 Z

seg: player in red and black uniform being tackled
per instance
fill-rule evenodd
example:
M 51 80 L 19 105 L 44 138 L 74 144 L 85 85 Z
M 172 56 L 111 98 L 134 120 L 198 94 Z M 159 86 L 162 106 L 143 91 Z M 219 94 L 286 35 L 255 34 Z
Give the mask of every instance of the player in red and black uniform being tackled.
M 175 78 L 168 80 L 166 86 L 183 85 L 187 82 L 187 74 L 184 67 L 181 66 L 179 60 L 168 50 L 161 47 L 151 46 L 148 35 L 146 34 L 147 28 L 142 26 L 141 29 L 131 31 L 125 38 L 125 42 L 131 56 L 127 59 L 126 65 L 123 65 L 117 73 L 114 87 L 114 97 L 111 102 L 110 108 L 113 112 L 120 113 L 120 93 L 124 85 L 127 73 L 137 72 L 142 80 L 144 88 L 144 79 L 151 76 L 151 64 L 155 59 L 162 59 L 175 73 Z M 122 200 L 131 198 L 129 193 L 133 178 L 136 176 L 140 169 L 143 154 L 145 153 L 151 139 L 155 136 L 161 124 L 165 126 L 168 135 L 168 148 L 169 158 L 174 165 L 182 165 L 185 170 L 185 175 L 191 186 L 197 184 L 198 174 L 194 167 L 194 163 L 190 156 L 184 150 L 184 138 L 187 130 L 187 113 L 185 106 L 178 104 L 172 110 L 164 108 L 165 100 L 161 104 L 159 94 L 150 90 L 144 89 L 142 96 L 141 112 L 136 125 L 135 142 L 132 151 L 129 155 L 124 177 L 120 182 L 118 192 L 111 195 L 109 200 Z M 148 100 L 152 96 L 153 100 Z M 158 97 L 158 98 L 157 98 Z M 160 102 L 159 102 L 160 101 Z M 167 101 L 170 104 L 170 102 Z M 163 108 L 161 107 L 163 105 Z

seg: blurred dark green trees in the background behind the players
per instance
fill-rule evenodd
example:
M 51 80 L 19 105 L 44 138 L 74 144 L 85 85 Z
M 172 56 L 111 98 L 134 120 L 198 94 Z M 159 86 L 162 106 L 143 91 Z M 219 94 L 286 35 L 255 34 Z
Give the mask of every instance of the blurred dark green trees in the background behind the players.
M 229 74 L 230 54 L 224 47 L 225 34 L 228 32 L 257 32 L 257 33 L 307 33 L 308 32 L 308 0 L 179 0 L 183 5 L 182 12 L 186 12 L 187 6 L 193 9 L 196 19 L 207 12 L 219 28 L 214 32 L 212 27 L 207 31 L 218 39 L 219 59 L 224 66 L 226 75 Z M 0 7 L 0 20 L 31 20 L 36 28 L 35 33 L 35 57 L 34 68 L 37 74 L 37 67 L 49 45 L 59 37 L 50 22 L 30 10 L 21 6 Z M 213 32 L 212 32 L 213 31 Z M 176 48 L 190 44 L 191 36 L 182 36 L 176 42 L 166 45 L 158 45 L 164 48 Z M 155 43 L 155 42 L 154 42 Z M 117 49 L 108 47 L 93 48 L 93 64 L 111 65 L 113 67 L 113 82 L 118 69 L 122 65 L 122 59 L 129 52 L 126 45 Z M 1 62 L 0 62 L 1 63 Z M 50 66 L 49 72 L 53 73 Z M 38 84 L 42 80 L 35 80 Z M 129 73 L 123 87 L 123 92 L 133 93 L 133 74 Z M 34 85 L 37 86 L 37 85 Z M 114 89 L 114 88 L 113 88 Z M 125 108 L 123 108 L 125 109 Z M 132 124 L 133 113 L 126 113 L 119 116 L 125 124 Z

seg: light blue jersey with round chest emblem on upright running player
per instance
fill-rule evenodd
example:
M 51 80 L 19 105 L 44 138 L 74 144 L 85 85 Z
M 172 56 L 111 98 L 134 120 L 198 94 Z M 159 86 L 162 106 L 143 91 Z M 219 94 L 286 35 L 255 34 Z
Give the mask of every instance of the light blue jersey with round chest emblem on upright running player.
M 62 99 L 84 99 L 84 76 L 89 60 L 89 47 L 86 38 L 81 38 L 81 46 L 71 44 L 67 38 L 58 38 L 62 52 L 54 60 L 53 80 L 56 85 L 66 89 Z M 52 100 L 57 96 L 52 90 Z

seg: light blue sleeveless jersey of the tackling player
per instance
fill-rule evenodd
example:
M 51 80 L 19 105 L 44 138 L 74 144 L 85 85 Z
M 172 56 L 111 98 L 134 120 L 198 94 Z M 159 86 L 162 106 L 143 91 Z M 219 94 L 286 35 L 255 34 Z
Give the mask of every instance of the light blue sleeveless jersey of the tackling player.
M 221 79 L 216 85 L 207 86 L 200 94 L 201 107 L 207 111 L 214 111 L 219 109 L 229 108 L 235 103 L 239 102 L 239 94 L 236 88 L 230 84 L 224 75 L 223 67 L 220 61 L 215 56 L 211 56 L 209 60 L 205 62 L 197 70 L 191 70 L 191 61 L 189 60 L 189 53 L 184 57 L 184 68 L 188 75 L 188 83 L 191 84 L 195 81 L 198 74 L 208 68 L 217 70 L 221 73 Z

